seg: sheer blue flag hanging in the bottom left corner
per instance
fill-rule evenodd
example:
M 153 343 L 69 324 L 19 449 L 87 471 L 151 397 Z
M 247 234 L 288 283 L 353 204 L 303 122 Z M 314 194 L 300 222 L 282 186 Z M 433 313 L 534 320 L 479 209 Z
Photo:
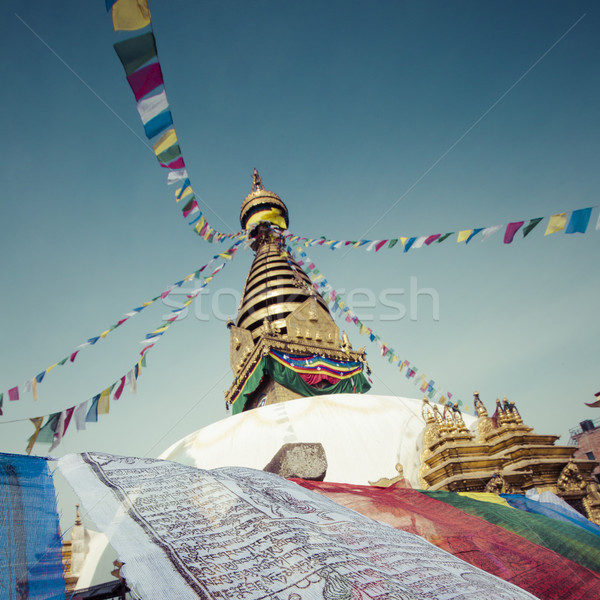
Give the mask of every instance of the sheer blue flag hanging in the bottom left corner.
M 54 485 L 43 458 L 0 454 L 0 597 L 63 600 Z

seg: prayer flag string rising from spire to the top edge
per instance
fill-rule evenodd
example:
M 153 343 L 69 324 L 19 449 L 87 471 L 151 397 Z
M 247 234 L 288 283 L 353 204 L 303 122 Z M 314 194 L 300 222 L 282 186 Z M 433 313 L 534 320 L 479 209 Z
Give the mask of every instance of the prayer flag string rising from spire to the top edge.
M 211 227 L 200 210 L 190 185 L 181 146 L 173 126 L 173 115 L 164 86 L 164 77 L 156 38 L 152 31 L 147 0 L 106 0 L 107 11 L 112 11 L 115 31 L 137 31 L 148 27 L 134 37 L 114 44 L 115 52 L 123 65 L 125 76 L 136 100 L 136 108 L 144 126 L 144 133 L 152 143 L 152 149 L 160 166 L 168 170 L 167 183 L 181 183 L 175 192 L 177 202 L 182 204 L 182 214 L 194 233 L 203 240 L 215 243 L 229 239 L 243 239 L 245 233 L 222 233 Z M 187 190 L 183 195 L 183 190 Z M 200 221 L 200 223 L 198 223 Z

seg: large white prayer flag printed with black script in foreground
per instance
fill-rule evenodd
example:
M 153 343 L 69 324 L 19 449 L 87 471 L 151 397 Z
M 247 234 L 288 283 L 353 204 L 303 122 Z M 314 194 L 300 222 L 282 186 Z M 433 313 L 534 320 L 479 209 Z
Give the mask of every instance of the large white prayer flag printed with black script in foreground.
M 58 466 L 144 600 L 534 598 L 270 473 L 101 453 Z

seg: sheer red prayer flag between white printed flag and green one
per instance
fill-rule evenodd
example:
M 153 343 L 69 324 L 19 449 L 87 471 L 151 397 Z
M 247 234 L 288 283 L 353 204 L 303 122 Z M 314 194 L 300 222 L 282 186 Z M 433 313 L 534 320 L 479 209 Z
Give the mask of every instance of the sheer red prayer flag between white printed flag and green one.
M 404 480 L 387 488 L 295 481 L 371 519 L 418 534 L 540 600 L 600 597 L 597 573 L 502 527 L 429 498 Z

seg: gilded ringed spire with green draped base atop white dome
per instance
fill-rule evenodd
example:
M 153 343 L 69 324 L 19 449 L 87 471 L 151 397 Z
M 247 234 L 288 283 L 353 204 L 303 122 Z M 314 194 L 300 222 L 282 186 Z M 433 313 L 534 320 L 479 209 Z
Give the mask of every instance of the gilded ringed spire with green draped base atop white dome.
M 225 401 L 234 414 L 295 398 L 364 393 L 364 348 L 353 350 L 327 303 L 288 252 L 289 219 L 281 198 L 256 169 L 242 203 L 242 229 L 255 252 L 235 323 L 229 321 L 235 379 Z

